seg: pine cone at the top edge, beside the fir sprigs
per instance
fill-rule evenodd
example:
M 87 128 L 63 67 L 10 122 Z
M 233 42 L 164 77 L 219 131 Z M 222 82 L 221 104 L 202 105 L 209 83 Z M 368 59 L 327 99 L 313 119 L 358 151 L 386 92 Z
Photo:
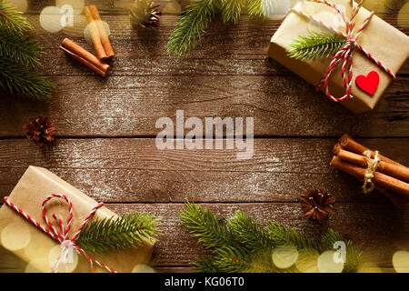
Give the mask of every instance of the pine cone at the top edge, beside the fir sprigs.
M 161 12 L 153 0 L 135 0 L 129 8 L 131 25 L 135 28 L 151 28 L 159 24 Z

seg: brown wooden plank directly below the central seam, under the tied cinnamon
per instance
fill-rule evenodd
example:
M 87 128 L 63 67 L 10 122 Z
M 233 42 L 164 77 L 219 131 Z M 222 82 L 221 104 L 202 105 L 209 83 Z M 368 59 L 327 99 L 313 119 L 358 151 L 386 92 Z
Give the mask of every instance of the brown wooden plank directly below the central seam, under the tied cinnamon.
M 408 139 L 363 144 L 407 164 Z M 334 139 L 255 139 L 254 156 L 236 150 L 158 150 L 154 139 L 60 139 L 43 149 L 27 140 L 0 141 L 0 196 L 27 166 L 43 166 L 104 202 L 294 202 L 323 187 L 339 202 L 389 202 L 364 196 L 360 183 L 328 164 Z

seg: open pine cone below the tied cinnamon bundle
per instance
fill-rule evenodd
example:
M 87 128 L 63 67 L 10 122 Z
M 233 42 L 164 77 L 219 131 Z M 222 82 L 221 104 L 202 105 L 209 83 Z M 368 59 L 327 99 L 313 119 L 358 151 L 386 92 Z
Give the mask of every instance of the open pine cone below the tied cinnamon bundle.
M 299 199 L 306 218 L 312 218 L 322 223 L 328 216 L 334 213 L 334 196 L 325 190 L 308 190 L 305 196 Z

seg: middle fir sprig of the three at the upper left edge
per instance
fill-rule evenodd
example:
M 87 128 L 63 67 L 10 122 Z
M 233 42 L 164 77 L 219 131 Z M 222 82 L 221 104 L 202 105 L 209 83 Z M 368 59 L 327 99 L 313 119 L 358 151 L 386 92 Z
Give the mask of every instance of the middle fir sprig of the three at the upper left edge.
M 42 65 L 38 56 L 45 55 L 42 49 L 43 46 L 39 45 L 35 39 L 0 30 L 0 57 L 12 58 L 18 65 L 39 67 Z

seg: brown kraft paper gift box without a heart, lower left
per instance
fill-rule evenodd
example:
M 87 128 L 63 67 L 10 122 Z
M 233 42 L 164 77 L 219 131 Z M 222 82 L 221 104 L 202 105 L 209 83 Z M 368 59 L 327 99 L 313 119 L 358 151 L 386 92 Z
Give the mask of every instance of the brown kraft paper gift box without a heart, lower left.
M 70 238 L 78 227 L 81 226 L 85 216 L 88 216 L 91 209 L 98 203 L 58 176 L 55 176 L 55 174 L 45 168 L 29 166 L 8 199 L 15 206 L 25 211 L 28 216 L 33 217 L 42 226 L 47 227 L 42 217 L 41 204 L 47 196 L 56 193 L 67 196 L 73 204 L 74 216 L 68 235 L 68 238 Z M 46 204 L 47 216 L 53 221 L 52 215 L 56 213 L 65 223 L 68 216 L 67 209 L 65 200 L 61 198 L 52 199 Z M 88 223 L 96 218 L 101 219 L 112 216 L 116 216 L 115 213 L 102 206 L 95 212 L 95 216 Z M 5 230 L 5 228 L 8 229 Z M 5 236 L 5 232 L 9 236 L 10 232 L 13 232 L 11 236 L 15 238 L 13 245 L 5 248 L 22 258 L 27 264 L 34 267 L 35 270 L 41 272 L 51 271 L 53 262 L 50 262 L 49 259 L 50 252 L 54 250 L 58 256 L 61 249 L 60 245 L 50 236 L 46 235 L 44 231 L 15 212 L 10 206 L 4 204 L 0 208 L 0 236 Z M 0 245 L 4 246 L 5 240 L 9 238 L 0 237 Z M 117 272 L 132 272 L 135 266 L 149 262 L 154 246 L 155 241 L 145 241 L 143 246 L 136 246 L 126 251 L 114 250 L 109 254 L 87 252 L 87 254 Z M 84 256 L 78 255 L 77 258 L 77 265 L 72 271 L 92 272 L 92 268 Z M 104 270 L 95 266 L 95 271 Z

